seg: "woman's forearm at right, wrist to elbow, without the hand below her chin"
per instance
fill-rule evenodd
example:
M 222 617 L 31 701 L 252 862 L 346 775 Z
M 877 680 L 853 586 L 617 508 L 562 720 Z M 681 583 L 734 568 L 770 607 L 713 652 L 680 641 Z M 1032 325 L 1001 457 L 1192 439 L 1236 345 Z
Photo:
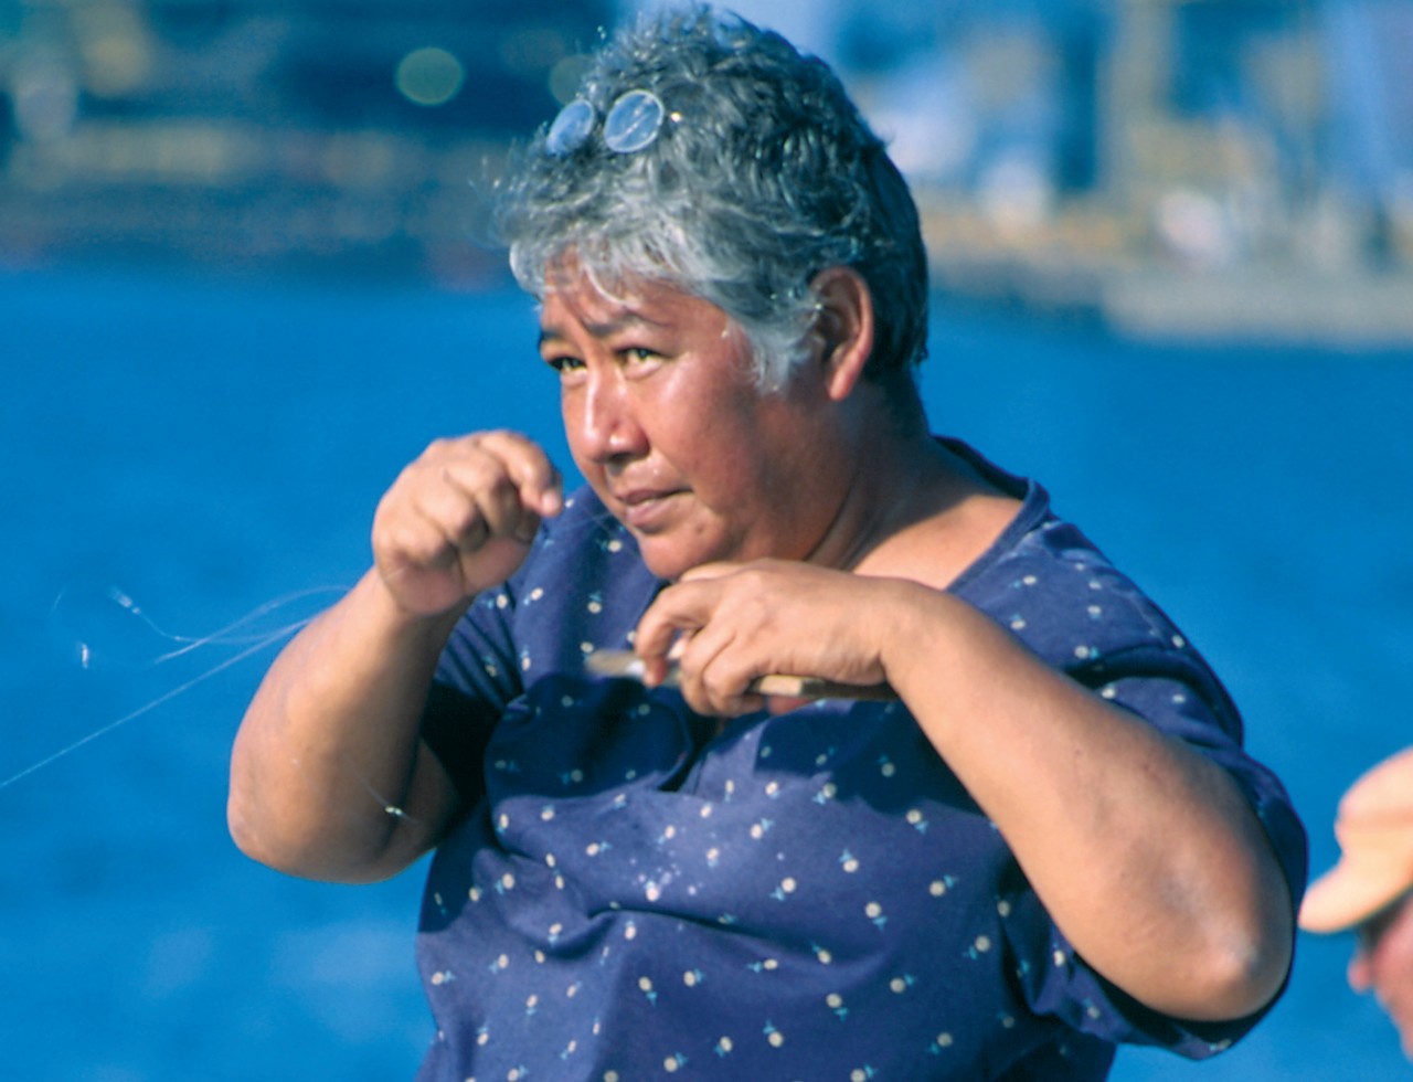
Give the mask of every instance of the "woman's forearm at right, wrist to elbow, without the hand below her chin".
M 955 598 L 910 590 L 907 612 L 889 681 L 1085 959 L 1180 1017 L 1263 1006 L 1290 898 L 1232 778 Z

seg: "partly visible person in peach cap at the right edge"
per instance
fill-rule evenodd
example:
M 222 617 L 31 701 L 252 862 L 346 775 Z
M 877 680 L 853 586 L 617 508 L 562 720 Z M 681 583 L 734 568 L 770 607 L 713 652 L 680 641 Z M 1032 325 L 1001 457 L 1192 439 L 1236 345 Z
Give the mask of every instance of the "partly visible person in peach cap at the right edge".
M 1356 934 L 1349 987 L 1375 994 L 1413 1059 L 1413 747 L 1349 787 L 1334 832 L 1340 862 L 1311 884 L 1300 927 Z

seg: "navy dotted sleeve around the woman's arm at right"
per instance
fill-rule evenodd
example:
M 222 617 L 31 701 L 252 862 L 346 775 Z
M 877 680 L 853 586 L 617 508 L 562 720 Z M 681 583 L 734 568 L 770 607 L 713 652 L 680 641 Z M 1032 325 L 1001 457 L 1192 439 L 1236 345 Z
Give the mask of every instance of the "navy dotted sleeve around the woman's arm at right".
M 1289 794 L 1243 749 L 1241 715 L 1202 655 L 1077 528 L 1053 517 L 1040 521 L 975 573 L 962 596 L 1051 668 L 1224 768 L 1265 828 L 1299 904 L 1308 856 Z M 1193 1023 L 1147 1009 L 1074 951 L 1019 866 L 1009 874 L 998 904 L 1020 994 L 1037 1014 L 1104 1041 L 1201 1059 L 1269 1011 Z

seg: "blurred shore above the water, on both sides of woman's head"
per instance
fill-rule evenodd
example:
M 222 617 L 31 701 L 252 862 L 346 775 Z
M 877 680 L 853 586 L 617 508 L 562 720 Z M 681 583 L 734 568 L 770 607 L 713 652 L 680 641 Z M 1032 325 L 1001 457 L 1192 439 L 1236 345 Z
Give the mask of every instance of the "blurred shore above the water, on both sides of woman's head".
M 633 7 L 0 0 L 0 264 L 502 280 L 479 181 Z M 1409 0 L 829 10 L 944 295 L 1140 335 L 1413 340 Z

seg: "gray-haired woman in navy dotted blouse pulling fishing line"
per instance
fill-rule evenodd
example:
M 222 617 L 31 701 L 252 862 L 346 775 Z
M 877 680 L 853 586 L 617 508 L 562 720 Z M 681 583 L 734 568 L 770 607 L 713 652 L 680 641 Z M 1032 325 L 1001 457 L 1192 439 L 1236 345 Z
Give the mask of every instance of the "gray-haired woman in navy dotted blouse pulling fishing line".
M 424 1076 L 1095 1079 L 1245 1033 L 1300 825 L 1167 619 L 928 434 L 916 209 L 829 69 L 644 24 L 502 225 L 588 487 L 434 444 L 232 770 L 276 867 L 437 848 Z M 595 675 L 625 647 L 642 682 Z

